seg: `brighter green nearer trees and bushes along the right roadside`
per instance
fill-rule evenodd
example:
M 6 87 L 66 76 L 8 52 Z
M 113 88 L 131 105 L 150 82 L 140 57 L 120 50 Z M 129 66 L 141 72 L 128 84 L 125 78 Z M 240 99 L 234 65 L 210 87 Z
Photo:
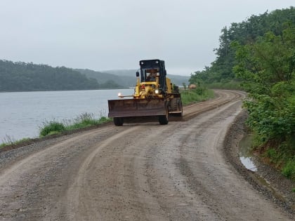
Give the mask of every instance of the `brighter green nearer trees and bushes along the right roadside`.
M 247 125 L 256 149 L 295 180 L 295 25 L 237 49 L 234 72 L 249 93 Z

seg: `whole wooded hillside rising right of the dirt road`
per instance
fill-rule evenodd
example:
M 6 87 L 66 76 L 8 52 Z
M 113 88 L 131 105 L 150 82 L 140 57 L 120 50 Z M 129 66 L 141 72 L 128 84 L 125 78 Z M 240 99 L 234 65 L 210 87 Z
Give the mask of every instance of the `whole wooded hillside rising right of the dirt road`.
M 295 8 L 251 15 L 221 33 L 216 60 L 190 83 L 239 83 L 256 152 L 295 180 Z

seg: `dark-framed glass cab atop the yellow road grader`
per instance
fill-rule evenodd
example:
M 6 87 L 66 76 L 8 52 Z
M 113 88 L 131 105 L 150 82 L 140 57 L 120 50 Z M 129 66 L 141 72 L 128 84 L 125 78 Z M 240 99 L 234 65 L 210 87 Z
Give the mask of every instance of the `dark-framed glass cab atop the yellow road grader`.
M 156 81 L 159 78 L 159 88 L 166 91 L 166 69 L 164 60 L 140 60 L 141 82 Z

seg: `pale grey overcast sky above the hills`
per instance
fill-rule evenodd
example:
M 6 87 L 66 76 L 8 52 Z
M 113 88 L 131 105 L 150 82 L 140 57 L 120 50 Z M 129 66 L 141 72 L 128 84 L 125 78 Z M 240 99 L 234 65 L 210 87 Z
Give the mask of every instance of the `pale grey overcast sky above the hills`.
M 165 60 L 190 75 L 216 58 L 221 29 L 294 0 L 0 0 L 0 59 L 88 68 L 138 69 Z

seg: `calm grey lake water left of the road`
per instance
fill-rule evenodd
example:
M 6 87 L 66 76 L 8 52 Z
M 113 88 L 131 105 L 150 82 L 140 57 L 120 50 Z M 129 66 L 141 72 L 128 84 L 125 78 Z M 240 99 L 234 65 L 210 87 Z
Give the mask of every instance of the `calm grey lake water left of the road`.
M 0 93 L 0 143 L 8 138 L 36 138 L 46 121 L 68 121 L 83 113 L 107 116 L 107 100 L 133 89 L 91 91 L 37 91 Z

